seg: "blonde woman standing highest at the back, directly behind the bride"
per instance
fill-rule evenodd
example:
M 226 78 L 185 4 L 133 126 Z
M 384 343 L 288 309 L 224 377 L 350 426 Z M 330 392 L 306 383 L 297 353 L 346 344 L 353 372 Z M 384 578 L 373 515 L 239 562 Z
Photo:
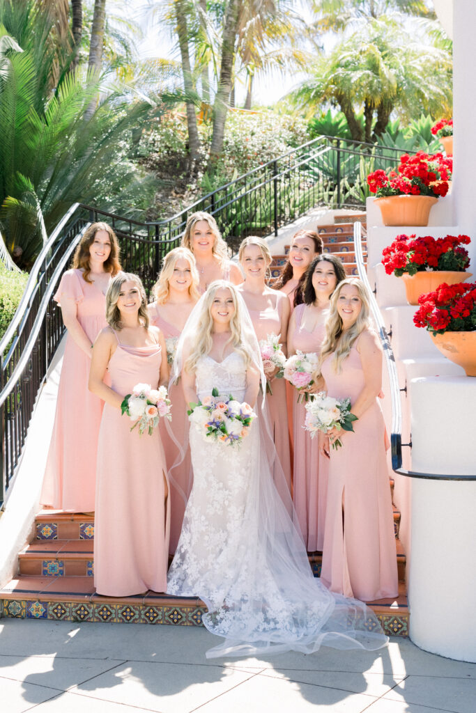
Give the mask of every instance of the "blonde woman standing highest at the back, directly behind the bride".
M 193 252 L 201 293 L 216 279 L 226 279 L 233 284 L 243 282 L 240 268 L 228 259 L 228 245 L 210 213 L 198 211 L 188 217 L 181 244 Z

